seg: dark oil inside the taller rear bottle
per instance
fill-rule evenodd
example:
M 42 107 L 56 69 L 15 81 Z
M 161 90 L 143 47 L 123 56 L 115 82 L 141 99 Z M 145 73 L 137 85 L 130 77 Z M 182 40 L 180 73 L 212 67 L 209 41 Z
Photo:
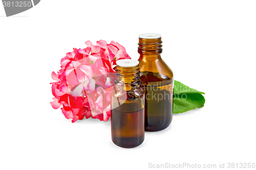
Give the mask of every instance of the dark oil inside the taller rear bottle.
M 145 131 L 167 128 L 173 119 L 173 79 L 157 72 L 141 72 L 145 92 Z

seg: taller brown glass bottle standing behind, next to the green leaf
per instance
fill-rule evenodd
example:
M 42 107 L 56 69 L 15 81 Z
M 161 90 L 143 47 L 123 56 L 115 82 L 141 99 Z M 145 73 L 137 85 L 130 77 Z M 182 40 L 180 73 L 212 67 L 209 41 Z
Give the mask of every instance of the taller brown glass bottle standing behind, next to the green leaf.
M 162 60 L 160 34 L 139 35 L 140 80 L 145 90 L 145 131 L 167 128 L 173 119 L 173 71 Z

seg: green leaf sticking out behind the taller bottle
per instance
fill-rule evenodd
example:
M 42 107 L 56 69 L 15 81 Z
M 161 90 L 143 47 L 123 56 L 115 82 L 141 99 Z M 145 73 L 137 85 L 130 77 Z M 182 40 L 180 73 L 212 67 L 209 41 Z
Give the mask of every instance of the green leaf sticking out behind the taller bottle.
M 174 81 L 174 113 L 183 113 L 204 106 L 204 92 Z

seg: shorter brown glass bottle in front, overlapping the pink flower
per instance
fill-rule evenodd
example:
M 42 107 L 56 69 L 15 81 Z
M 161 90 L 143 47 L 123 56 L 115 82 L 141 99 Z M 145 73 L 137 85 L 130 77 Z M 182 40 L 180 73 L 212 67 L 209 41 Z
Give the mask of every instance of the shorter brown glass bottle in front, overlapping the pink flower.
M 118 60 L 115 86 L 111 91 L 112 141 L 123 148 L 134 148 L 144 141 L 144 90 L 139 62 Z

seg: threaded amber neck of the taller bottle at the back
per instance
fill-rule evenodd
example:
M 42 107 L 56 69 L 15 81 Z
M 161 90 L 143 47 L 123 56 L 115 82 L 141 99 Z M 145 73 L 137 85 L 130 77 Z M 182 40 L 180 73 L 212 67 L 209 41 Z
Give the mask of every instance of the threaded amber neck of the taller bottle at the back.
M 139 37 L 138 45 L 138 53 L 140 55 L 160 55 L 163 51 L 161 37 L 147 38 L 146 36 L 141 36 Z

